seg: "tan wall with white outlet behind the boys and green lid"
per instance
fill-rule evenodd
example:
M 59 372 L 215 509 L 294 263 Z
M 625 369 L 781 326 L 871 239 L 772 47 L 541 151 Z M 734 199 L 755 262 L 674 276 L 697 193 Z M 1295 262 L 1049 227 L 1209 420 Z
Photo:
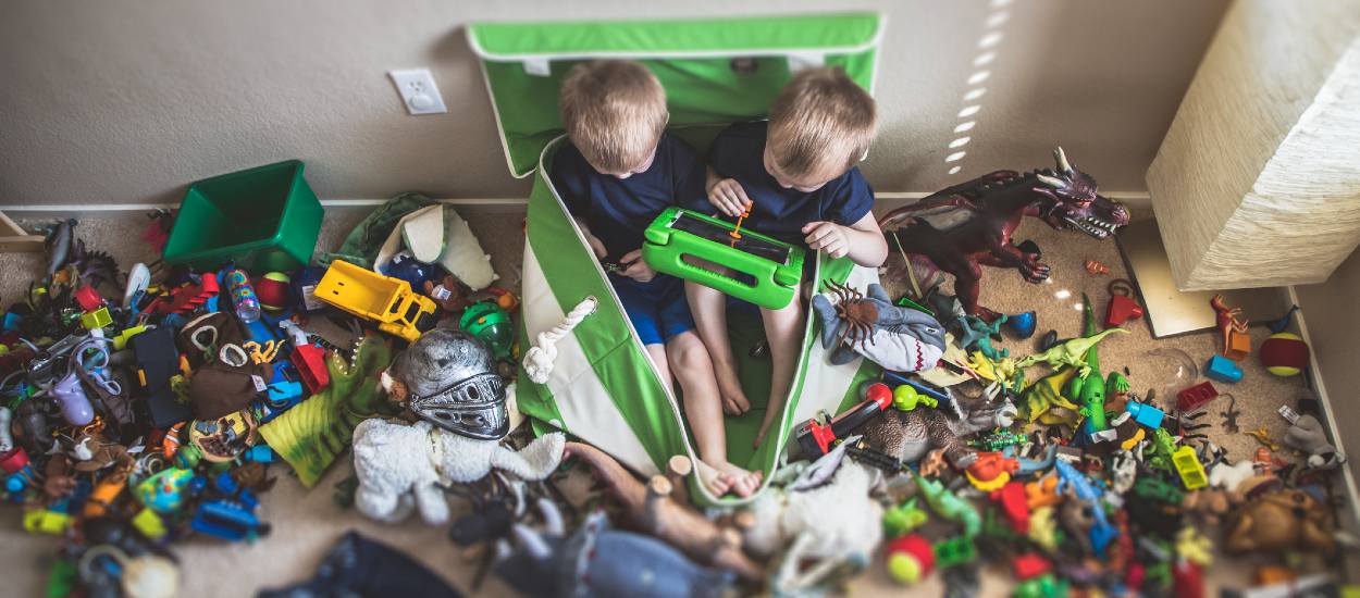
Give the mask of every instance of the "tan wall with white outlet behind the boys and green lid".
M 1138 192 L 1225 0 L 861 0 L 888 15 L 887 192 L 1049 160 L 1062 143 L 1103 189 Z M 284 158 L 328 198 L 419 189 L 524 197 L 460 26 L 476 19 L 806 12 L 816 0 L 75 0 L 0 18 L 0 204 L 175 201 L 188 181 Z M 1002 12 L 1002 16 L 994 16 Z M 994 29 L 987 29 L 987 19 Z M 1005 20 L 1001 23 L 1001 20 Z M 963 171 L 947 144 L 981 37 L 1002 34 Z M 386 79 L 430 67 L 449 114 L 408 117 Z

